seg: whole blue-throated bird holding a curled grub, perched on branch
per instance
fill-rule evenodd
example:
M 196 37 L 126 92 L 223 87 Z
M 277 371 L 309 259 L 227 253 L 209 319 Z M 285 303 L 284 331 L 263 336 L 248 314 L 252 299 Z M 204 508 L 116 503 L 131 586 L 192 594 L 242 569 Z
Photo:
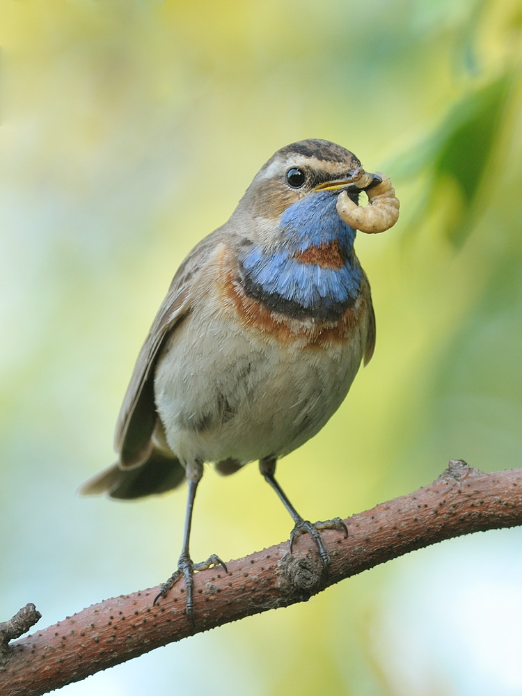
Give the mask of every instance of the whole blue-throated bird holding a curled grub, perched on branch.
M 358 205 L 365 191 L 368 205 Z M 83 493 L 141 498 L 188 481 L 182 553 L 157 596 L 183 577 L 193 622 L 189 536 L 204 462 L 228 475 L 258 460 L 264 479 L 308 532 L 326 571 L 320 530 L 276 481 L 276 461 L 338 409 L 361 361 L 372 357 L 370 285 L 356 229 L 382 232 L 398 217 L 388 177 L 349 150 L 305 140 L 278 150 L 235 212 L 182 262 L 138 356 L 116 427 L 118 461 Z

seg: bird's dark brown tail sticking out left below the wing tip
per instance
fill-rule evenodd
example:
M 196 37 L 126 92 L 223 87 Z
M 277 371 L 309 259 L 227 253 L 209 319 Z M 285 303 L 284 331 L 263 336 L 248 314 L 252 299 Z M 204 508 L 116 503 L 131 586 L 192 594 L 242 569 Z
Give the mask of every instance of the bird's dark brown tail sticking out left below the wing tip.
M 147 461 L 134 468 L 123 469 L 117 463 L 109 466 L 86 481 L 79 492 L 84 496 L 106 492 L 111 498 L 130 500 L 170 491 L 184 479 L 185 470 L 179 459 L 155 450 Z

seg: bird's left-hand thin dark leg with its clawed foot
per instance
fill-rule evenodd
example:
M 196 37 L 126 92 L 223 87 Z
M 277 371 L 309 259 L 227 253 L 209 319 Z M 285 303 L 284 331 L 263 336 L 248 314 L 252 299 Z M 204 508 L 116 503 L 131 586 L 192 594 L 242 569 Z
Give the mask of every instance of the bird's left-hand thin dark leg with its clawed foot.
M 170 578 L 161 585 L 161 590 L 155 596 L 153 602 L 154 606 L 157 604 L 159 599 L 163 599 L 171 587 L 177 583 L 177 580 L 184 577 L 185 579 L 185 592 L 187 595 L 186 599 L 186 611 L 187 616 L 190 618 L 192 626 L 195 628 L 196 623 L 194 621 L 194 580 L 193 574 L 197 571 L 207 570 L 207 568 L 213 565 L 221 565 L 224 571 L 227 573 L 227 567 L 221 560 L 219 556 L 213 553 L 206 561 L 200 563 L 194 563 L 190 557 L 189 553 L 189 540 L 190 540 L 190 530 L 192 525 L 192 512 L 194 507 L 194 499 L 196 498 L 196 490 L 198 488 L 198 483 L 203 476 L 203 464 L 200 461 L 196 461 L 193 466 L 187 466 L 187 478 L 189 480 L 189 495 L 187 496 L 187 512 L 185 514 L 185 525 L 183 532 L 183 546 L 180 555 L 180 560 L 177 562 L 177 570 L 173 572 Z

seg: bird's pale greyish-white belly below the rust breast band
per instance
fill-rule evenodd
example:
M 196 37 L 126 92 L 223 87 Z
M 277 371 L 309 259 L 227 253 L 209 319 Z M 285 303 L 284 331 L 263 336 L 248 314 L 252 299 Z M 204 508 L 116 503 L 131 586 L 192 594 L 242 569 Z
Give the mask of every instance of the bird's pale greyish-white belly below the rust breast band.
M 169 447 L 182 463 L 280 457 L 338 409 L 364 346 L 361 335 L 327 346 L 283 344 L 209 308 L 173 332 L 155 374 Z M 225 327 L 226 326 L 226 330 Z

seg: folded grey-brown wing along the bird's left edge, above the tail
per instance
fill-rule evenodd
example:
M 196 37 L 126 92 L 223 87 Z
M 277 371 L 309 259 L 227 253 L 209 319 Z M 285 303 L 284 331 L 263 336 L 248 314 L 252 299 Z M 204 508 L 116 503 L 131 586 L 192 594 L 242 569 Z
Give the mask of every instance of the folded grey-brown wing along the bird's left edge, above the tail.
M 175 278 L 176 280 L 176 278 Z M 115 447 L 123 468 L 138 466 L 152 453 L 157 413 L 154 401 L 155 363 L 161 345 L 188 312 L 187 287 L 173 280 L 139 353 L 116 424 Z

